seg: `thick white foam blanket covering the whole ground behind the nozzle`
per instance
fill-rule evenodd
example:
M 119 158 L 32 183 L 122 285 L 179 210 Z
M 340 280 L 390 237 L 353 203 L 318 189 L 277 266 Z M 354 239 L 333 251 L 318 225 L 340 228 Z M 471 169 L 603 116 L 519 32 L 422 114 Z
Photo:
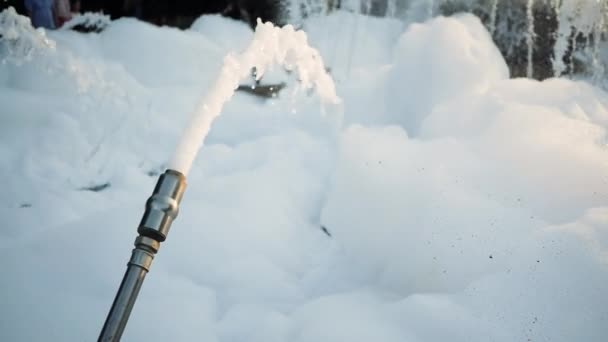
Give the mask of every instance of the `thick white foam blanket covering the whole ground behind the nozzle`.
M 158 172 L 252 32 L 121 19 L 45 41 L 13 24 L 0 340 L 93 340 Z M 509 79 L 470 15 L 304 29 L 343 118 L 278 71 L 279 98 L 234 96 L 124 339 L 608 340 L 608 95 Z

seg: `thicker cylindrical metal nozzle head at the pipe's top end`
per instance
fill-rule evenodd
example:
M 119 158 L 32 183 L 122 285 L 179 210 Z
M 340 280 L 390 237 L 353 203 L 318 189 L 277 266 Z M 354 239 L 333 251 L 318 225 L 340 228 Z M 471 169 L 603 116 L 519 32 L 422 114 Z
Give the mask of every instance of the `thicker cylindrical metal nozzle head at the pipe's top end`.
M 171 169 L 165 171 L 146 202 L 146 211 L 137 232 L 158 242 L 165 241 L 171 223 L 179 212 L 179 203 L 185 190 L 186 176 Z

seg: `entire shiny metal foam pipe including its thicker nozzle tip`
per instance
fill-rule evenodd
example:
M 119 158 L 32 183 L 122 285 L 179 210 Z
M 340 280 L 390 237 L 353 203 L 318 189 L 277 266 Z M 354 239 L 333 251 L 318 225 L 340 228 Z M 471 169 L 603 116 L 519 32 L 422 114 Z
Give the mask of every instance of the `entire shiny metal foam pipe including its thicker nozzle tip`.
M 154 255 L 177 217 L 185 189 L 186 177 L 178 171 L 167 170 L 158 179 L 146 202 L 146 211 L 137 228 L 139 236 L 135 239 L 135 248 L 98 342 L 120 341 Z

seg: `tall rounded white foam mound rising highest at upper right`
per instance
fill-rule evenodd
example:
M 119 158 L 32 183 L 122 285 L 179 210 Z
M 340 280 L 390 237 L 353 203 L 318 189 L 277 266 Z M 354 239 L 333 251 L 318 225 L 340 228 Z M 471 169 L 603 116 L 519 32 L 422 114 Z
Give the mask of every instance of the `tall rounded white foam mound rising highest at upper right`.
M 476 16 L 438 17 L 412 24 L 395 49 L 386 89 L 388 123 L 403 125 L 415 135 L 438 103 L 476 96 L 507 78 L 504 58 Z

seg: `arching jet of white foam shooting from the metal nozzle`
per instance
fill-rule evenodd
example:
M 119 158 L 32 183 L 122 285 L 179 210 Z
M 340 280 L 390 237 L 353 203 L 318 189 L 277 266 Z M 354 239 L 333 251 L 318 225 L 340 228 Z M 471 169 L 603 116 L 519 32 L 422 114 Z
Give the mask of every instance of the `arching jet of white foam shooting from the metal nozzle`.
M 306 33 L 296 31 L 291 25 L 279 28 L 258 19 L 247 49 L 241 54 L 229 54 L 224 58 L 220 75 L 193 113 L 169 168 L 188 175 L 213 120 L 220 115 L 224 103 L 232 97 L 239 82 L 251 77 L 254 67 L 256 77 L 260 79 L 274 63 L 287 70 L 295 70 L 302 85 L 309 89 L 314 87 L 323 103 L 340 102 L 334 81 L 327 74 L 319 52 L 308 45 Z

